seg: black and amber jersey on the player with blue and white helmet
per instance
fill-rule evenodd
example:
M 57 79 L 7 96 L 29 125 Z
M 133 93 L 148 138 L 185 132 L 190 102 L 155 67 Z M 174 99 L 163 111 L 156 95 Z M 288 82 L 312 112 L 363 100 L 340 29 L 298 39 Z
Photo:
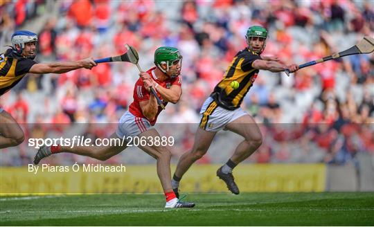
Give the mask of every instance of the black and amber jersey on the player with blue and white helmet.
M 37 64 L 27 57 L 22 57 L 8 49 L 0 54 L 0 96 L 15 87 L 24 75 L 30 71 L 31 66 Z

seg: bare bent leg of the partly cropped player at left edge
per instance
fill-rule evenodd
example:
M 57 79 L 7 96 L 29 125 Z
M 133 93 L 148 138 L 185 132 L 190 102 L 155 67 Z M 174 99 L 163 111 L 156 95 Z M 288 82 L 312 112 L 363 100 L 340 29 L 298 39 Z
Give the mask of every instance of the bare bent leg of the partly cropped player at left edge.
M 5 110 L 0 112 L 0 122 L 0 149 L 15 147 L 24 142 L 24 131 Z

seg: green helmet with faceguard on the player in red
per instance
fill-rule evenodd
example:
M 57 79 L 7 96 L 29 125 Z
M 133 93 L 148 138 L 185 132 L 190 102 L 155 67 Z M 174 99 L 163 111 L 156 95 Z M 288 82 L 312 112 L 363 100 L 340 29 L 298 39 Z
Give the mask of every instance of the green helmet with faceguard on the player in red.
M 162 46 L 154 52 L 154 64 L 170 78 L 176 78 L 181 73 L 182 58 L 174 47 Z M 162 64 L 166 64 L 166 69 L 161 67 Z

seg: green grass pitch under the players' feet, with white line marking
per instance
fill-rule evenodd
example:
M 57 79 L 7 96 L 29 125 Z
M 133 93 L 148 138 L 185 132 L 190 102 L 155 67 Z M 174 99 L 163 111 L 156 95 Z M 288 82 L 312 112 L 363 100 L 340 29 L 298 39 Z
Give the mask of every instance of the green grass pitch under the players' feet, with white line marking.
M 374 226 L 374 193 L 189 194 L 165 210 L 162 194 L 0 197 L 0 225 Z

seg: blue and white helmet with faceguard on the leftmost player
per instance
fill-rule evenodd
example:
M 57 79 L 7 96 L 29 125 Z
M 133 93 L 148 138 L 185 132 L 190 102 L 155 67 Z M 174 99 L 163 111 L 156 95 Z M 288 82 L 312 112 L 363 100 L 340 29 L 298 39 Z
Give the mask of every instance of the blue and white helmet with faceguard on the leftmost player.
M 37 35 L 28 30 L 17 30 L 12 35 L 13 52 L 21 55 L 21 53 L 24 51 L 25 44 L 29 42 L 36 42 L 36 45 L 37 45 Z M 16 44 L 19 45 L 19 50 L 16 48 Z M 37 49 L 35 50 L 35 53 L 33 53 L 33 55 L 28 55 L 25 57 L 34 59 L 36 55 L 37 55 Z

